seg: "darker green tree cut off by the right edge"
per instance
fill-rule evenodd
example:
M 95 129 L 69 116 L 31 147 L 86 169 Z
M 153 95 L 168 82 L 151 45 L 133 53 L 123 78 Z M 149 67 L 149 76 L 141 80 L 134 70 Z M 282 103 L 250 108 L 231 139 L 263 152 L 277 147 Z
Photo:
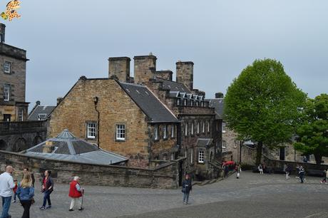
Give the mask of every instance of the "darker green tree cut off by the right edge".
M 319 165 L 322 157 L 328 157 L 328 95 L 309 99 L 304 112 L 304 121 L 297 129 L 299 142 L 294 147 L 304 155 L 314 155 Z

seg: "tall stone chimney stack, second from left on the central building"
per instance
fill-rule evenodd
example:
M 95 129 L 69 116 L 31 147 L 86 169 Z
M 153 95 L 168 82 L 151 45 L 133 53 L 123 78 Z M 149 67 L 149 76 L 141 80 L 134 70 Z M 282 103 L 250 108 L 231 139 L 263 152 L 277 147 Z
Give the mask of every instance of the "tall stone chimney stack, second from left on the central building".
M 152 53 L 149 56 L 135 56 L 133 59 L 135 83 L 148 83 L 155 78 L 157 58 Z

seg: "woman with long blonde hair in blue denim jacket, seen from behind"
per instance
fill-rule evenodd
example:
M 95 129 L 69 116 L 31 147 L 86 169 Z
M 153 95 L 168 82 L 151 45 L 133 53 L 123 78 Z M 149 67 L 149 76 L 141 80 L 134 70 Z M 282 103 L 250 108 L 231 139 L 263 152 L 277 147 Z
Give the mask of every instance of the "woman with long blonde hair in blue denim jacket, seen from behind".
M 34 187 L 32 184 L 31 174 L 29 172 L 24 174 L 24 178 L 21 180 L 21 183 L 17 189 L 17 196 L 19 197 L 21 206 L 24 207 L 23 216 L 21 216 L 21 218 L 29 218 L 32 199 L 34 197 Z

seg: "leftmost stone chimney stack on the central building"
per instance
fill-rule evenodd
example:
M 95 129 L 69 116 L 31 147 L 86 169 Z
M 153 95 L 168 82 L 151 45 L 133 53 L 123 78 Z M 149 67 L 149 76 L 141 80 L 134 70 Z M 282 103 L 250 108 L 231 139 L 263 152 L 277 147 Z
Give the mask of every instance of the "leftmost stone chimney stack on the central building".
M 118 81 L 130 81 L 130 61 L 128 57 L 108 58 L 108 78 L 116 76 Z

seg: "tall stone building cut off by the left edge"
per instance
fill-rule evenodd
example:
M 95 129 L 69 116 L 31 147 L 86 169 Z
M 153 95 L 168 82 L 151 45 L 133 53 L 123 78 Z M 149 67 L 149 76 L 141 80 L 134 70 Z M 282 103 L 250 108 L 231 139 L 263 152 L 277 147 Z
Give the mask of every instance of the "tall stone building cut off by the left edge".
M 5 43 L 4 24 L 0 24 L 0 120 L 27 120 L 25 102 L 26 51 Z

